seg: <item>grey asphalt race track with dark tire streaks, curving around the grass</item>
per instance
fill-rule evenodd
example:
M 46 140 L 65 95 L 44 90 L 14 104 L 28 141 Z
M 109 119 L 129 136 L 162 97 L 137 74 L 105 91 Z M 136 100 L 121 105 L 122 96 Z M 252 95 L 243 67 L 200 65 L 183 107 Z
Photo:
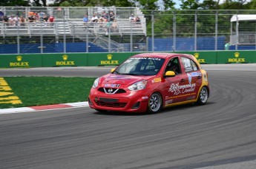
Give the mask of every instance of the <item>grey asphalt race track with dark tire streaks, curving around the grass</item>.
M 159 114 L 101 114 L 88 107 L 0 114 L 0 168 L 255 169 L 256 64 L 203 68 L 211 83 L 206 106 Z M 0 75 L 99 76 L 109 70 L 0 69 Z

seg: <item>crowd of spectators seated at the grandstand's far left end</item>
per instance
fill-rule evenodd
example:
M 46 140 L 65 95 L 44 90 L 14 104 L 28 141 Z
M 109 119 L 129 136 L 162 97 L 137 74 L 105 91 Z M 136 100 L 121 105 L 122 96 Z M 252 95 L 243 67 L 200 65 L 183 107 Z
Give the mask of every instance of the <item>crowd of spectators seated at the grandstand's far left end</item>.
M 26 17 L 27 15 L 27 17 Z M 47 15 L 40 11 L 39 13 L 29 12 L 23 13 L 23 15 L 1 15 L 0 22 L 4 23 L 10 27 L 22 26 L 24 27 L 26 24 L 31 24 L 36 26 L 39 22 L 44 22 L 45 26 L 53 25 L 55 18 L 53 15 Z

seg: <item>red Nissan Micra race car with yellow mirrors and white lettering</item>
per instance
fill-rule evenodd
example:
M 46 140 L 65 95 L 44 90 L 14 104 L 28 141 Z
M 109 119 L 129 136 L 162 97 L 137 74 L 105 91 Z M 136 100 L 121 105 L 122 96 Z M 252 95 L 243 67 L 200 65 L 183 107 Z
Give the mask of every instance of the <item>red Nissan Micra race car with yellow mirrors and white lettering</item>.
M 158 112 L 208 98 L 208 74 L 193 55 L 143 53 L 97 78 L 88 103 L 97 111 Z

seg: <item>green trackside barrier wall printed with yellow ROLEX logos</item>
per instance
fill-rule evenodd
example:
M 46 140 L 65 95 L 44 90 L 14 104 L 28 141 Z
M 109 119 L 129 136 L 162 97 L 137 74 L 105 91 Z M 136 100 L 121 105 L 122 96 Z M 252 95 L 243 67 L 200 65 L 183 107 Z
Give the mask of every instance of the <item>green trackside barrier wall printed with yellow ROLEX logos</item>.
M 116 66 L 140 52 L 0 55 L 0 68 Z M 256 51 L 177 52 L 194 55 L 201 64 L 256 63 Z

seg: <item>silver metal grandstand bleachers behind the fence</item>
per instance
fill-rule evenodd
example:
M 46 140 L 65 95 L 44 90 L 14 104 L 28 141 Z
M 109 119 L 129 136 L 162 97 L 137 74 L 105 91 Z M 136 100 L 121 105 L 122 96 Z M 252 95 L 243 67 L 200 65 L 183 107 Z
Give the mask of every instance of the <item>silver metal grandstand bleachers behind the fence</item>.
M 44 39 L 51 39 L 50 43 L 52 44 L 70 41 L 70 39 L 72 39 L 73 42 L 88 43 L 88 47 L 94 46 L 94 52 L 102 52 L 105 50 L 116 52 L 128 51 L 130 47 L 128 46 L 126 47 L 127 49 L 124 49 L 123 44 L 117 43 L 111 39 L 111 37 L 146 35 L 145 17 L 137 7 L 0 7 L 0 11 L 7 16 L 23 15 L 25 18 L 27 18 L 31 12 L 35 14 L 42 12 L 47 15 L 54 15 L 56 18 L 53 24 L 45 24 L 38 19 L 35 23 L 27 21 L 27 23 L 23 25 L 17 23 L 14 27 L 13 25 L 1 21 L 0 38 L 14 38 L 19 36 L 23 39 L 25 37 L 35 39 L 36 37 L 44 37 Z M 84 24 L 82 21 L 85 14 L 88 14 L 89 18 L 91 18 L 93 14 L 98 15 L 100 18 L 102 11 L 106 13 L 113 11 L 115 13 L 117 25 L 115 30 L 112 30 L 110 27 L 105 27 L 105 23 Z M 131 13 L 138 15 L 140 22 L 131 22 L 128 19 Z M 26 42 L 22 44 L 24 43 Z M 40 41 L 36 43 L 39 44 Z M 28 52 L 26 49 L 24 49 L 24 51 Z M 88 49 L 85 49 L 83 52 L 87 51 Z

